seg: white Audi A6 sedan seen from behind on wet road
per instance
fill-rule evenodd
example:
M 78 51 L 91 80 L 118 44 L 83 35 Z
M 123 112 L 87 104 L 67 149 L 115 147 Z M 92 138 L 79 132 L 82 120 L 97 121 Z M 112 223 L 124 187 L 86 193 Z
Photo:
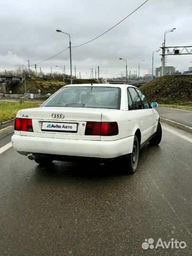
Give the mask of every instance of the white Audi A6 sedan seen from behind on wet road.
M 40 165 L 123 158 L 133 174 L 139 149 L 161 141 L 156 107 L 131 85 L 67 85 L 39 108 L 18 111 L 12 144 Z

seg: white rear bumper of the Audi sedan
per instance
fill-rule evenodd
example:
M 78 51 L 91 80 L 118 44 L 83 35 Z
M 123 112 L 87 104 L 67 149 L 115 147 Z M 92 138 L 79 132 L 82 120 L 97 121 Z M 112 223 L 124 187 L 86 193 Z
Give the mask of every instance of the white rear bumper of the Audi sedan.
M 18 153 L 39 153 L 95 158 L 114 158 L 132 153 L 134 136 L 112 141 L 55 139 L 13 135 Z

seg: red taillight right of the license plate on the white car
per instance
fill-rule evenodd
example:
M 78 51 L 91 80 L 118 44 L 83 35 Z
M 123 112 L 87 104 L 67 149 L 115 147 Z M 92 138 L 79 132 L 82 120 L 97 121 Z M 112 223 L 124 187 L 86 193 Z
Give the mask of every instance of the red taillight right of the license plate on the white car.
M 114 136 L 119 133 L 117 122 L 87 122 L 85 135 Z

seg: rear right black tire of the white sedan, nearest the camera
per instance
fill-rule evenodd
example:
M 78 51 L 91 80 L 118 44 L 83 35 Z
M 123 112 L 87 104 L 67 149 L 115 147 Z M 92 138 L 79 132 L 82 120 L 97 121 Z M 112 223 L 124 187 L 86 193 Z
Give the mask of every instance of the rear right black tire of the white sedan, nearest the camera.
M 134 174 L 136 172 L 137 165 L 138 165 L 138 158 L 139 158 L 139 143 L 138 143 L 138 138 L 135 135 L 134 141 L 133 141 L 132 153 L 126 155 L 128 174 Z

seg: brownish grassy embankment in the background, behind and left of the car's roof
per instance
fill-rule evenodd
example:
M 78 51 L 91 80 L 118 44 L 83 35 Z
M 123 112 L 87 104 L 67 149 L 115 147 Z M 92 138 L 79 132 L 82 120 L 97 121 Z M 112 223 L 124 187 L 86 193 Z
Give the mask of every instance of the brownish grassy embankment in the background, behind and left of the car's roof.
M 97 83 L 95 80 L 91 80 L 93 83 Z M 70 79 L 64 80 L 65 85 L 70 84 Z M 54 93 L 64 86 L 63 78 L 38 78 L 38 77 L 26 77 L 26 88 L 30 93 L 38 93 L 41 90 L 42 94 Z M 89 79 L 73 79 L 73 83 L 90 83 Z M 25 92 L 25 83 L 9 83 L 6 85 L 6 92 L 12 91 L 12 94 L 22 94 Z

